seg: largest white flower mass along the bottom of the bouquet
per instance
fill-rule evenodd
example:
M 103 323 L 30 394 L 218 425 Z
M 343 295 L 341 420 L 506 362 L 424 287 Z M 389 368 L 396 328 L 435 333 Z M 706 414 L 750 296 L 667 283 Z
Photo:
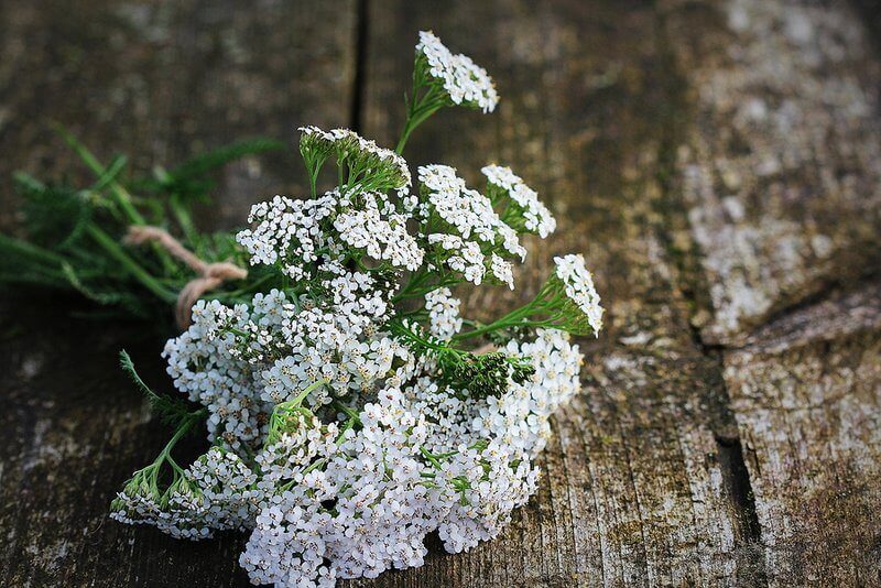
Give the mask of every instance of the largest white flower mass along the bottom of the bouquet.
M 565 335 L 541 331 L 505 352 L 531 353 L 534 380 L 470 402 L 423 375 L 381 390 L 350 418 L 357 428 L 341 432 L 304 409 L 283 412 L 254 459 L 260 476 L 214 448 L 165 511 L 137 521 L 189 538 L 253 527 L 241 565 L 254 582 L 276 586 L 331 586 L 422 565 L 432 531 L 450 553 L 471 548 L 534 493 L 532 457 L 548 416 L 578 390 L 581 356 Z M 126 498 L 115 516 L 134 521 L 126 514 L 139 512 L 133 504 Z

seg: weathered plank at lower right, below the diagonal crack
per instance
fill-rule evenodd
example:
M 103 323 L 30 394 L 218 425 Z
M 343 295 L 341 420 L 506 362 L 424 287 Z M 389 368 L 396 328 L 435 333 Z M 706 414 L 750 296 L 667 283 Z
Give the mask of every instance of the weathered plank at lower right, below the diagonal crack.
M 726 353 L 769 580 L 881 581 L 881 283 Z

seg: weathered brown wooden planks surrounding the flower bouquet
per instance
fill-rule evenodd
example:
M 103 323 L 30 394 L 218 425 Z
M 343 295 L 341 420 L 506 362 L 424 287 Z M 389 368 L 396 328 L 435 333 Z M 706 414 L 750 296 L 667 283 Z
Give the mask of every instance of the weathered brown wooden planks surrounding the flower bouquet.
M 391 144 L 410 47 L 434 29 L 490 69 L 502 102 L 439 115 L 407 157 L 475 184 L 488 161 L 518 170 L 561 220 L 532 243 L 519 295 L 553 254 L 584 252 L 608 331 L 583 342 L 584 393 L 500 537 L 350 584 L 878 585 L 879 26 L 805 4 L 4 2 L 0 172 L 66 168 L 45 118 L 143 167 L 312 122 Z M 217 222 L 302 185 L 293 156 L 261 161 L 228 172 Z M 0 202 L 11 209 L 8 189 Z M 0 584 L 243 584 L 240 537 L 106 520 L 164 435 L 115 352 L 153 358 L 157 381 L 159 342 L 69 306 L 0 303 Z

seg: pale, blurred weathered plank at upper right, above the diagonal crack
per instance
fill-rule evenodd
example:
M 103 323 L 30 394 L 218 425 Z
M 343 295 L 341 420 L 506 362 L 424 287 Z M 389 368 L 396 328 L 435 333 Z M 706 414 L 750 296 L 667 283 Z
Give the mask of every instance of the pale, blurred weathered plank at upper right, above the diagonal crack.
M 720 2 L 725 31 L 676 34 L 696 98 L 679 155 L 701 250 L 708 344 L 881 260 L 881 61 L 844 2 Z

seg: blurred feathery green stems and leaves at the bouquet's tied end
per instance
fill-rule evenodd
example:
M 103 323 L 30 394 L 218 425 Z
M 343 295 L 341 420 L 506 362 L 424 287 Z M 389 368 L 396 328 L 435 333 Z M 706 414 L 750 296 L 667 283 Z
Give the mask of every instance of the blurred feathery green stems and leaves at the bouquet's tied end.
M 208 263 L 230 260 L 244 264 L 233 233 L 198 231 L 193 207 L 208 200 L 215 188 L 211 174 L 218 167 L 282 149 L 281 142 L 240 141 L 196 155 L 171 172 L 156 168 L 154 177 L 129 179 L 126 156 L 118 155 L 105 166 L 66 130 L 56 128 L 56 132 L 96 181 L 78 188 L 45 183 L 23 172 L 14 174 L 14 187 L 23 200 L 24 235 L 0 235 L 0 285 L 73 292 L 104 308 L 96 308 L 95 316 L 160 318 L 159 324 L 166 325 L 168 306 L 194 277 L 193 271 L 156 246 L 124 246 L 122 238 L 130 226 L 165 228 Z M 210 296 L 227 302 L 244 300 L 257 281 L 267 285 L 257 277 L 249 281 L 250 287 L 236 290 L 233 283 Z

